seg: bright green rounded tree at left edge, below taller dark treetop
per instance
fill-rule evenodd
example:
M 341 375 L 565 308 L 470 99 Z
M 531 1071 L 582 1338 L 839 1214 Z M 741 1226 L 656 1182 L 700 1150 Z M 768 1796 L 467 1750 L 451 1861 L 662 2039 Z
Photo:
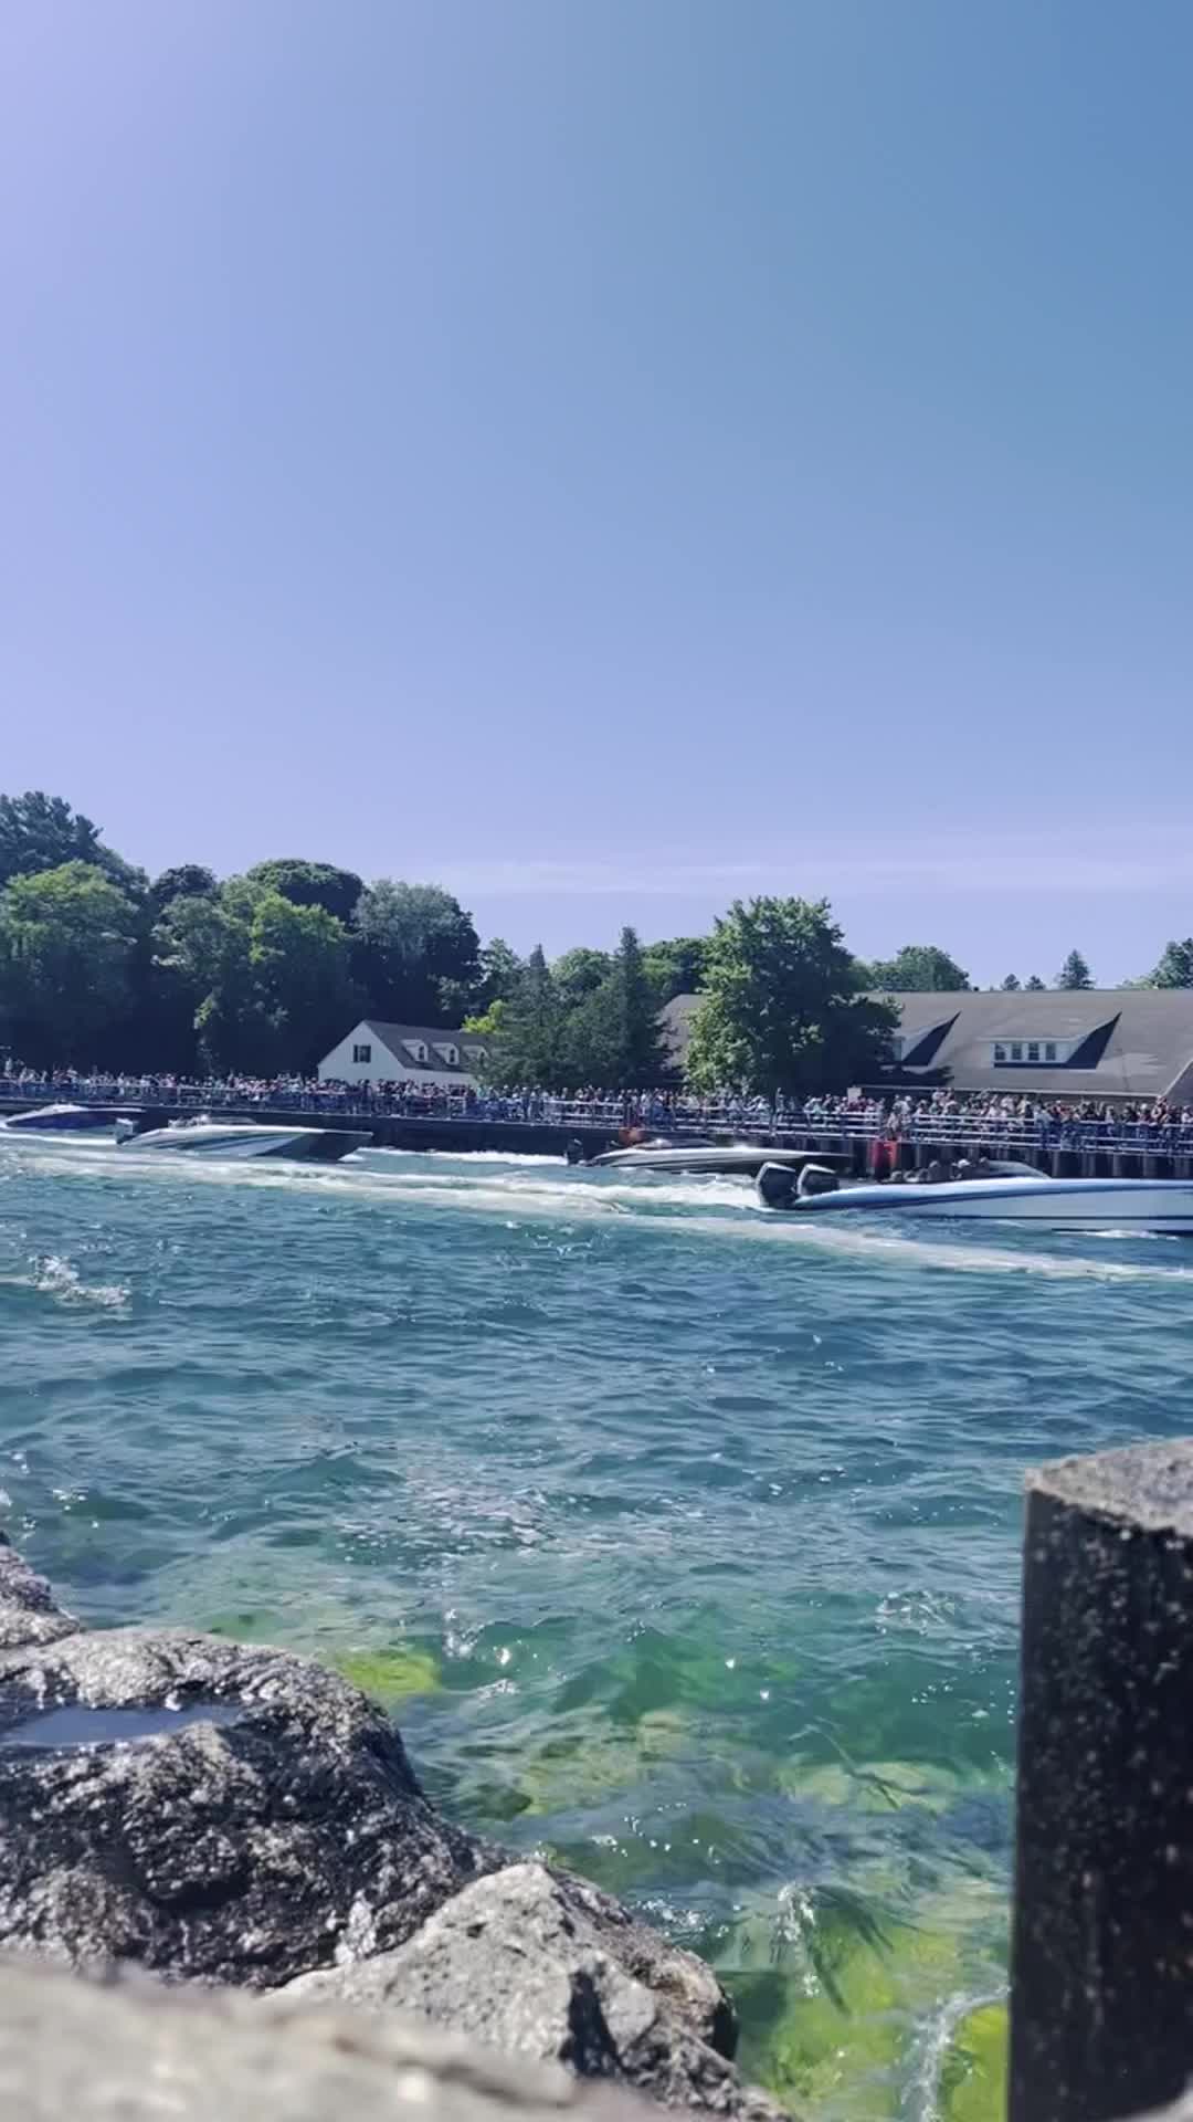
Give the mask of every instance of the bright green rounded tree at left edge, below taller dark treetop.
M 138 908 L 96 864 L 11 879 L 0 893 L 0 993 L 21 1059 L 98 1059 L 127 1010 L 136 932 Z

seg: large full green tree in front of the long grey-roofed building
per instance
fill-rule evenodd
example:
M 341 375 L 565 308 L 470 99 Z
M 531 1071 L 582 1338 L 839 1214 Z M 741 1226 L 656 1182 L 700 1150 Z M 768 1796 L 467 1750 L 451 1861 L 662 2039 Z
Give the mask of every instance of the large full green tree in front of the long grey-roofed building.
M 860 993 L 828 900 L 734 900 L 715 923 L 688 1078 L 705 1089 L 834 1091 L 875 1080 L 898 1012 Z

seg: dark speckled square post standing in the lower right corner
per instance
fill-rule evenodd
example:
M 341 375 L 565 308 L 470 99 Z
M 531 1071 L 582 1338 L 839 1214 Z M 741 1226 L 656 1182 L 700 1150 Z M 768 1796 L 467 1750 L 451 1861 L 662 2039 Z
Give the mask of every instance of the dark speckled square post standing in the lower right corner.
M 1027 1481 L 1010 2122 L 1193 2077 L 1193 1441 Z

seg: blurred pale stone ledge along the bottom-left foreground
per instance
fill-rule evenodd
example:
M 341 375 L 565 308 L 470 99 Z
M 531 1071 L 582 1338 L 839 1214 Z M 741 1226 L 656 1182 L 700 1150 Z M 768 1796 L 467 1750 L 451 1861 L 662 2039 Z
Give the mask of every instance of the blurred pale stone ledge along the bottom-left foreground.
M 0 1965 L 0 2111 L 21 2122 L 645 2122 L 567 2071 L 405 2020 Z

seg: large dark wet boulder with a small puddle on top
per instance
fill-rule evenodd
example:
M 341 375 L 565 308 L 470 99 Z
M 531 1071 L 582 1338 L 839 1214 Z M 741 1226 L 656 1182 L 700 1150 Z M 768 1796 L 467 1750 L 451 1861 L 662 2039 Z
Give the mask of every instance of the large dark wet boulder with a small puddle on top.
M 62 1704 L 240 1715 L 138 1744 L 6 1744 Z M 174 1630 L 0 1651 L 0 1944 L 259 1988 L 401 1944 L 501 1861 L 431 1810 L 346 1681 Z

